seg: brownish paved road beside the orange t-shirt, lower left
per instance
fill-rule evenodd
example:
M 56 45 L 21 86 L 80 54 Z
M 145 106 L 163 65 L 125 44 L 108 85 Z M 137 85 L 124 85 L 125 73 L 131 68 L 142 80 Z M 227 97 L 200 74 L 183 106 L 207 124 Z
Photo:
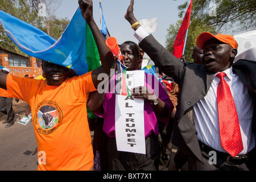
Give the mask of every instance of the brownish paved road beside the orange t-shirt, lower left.
M 0 171 L 36 171 L 38 168 L 37 144 L 32 122 L 21 125 L 18 121 L 25 116 L 26 102 L 13 100 L 15 112 L 15 124 L 9 128 L 6 126 L 6 115 L 0 112 Z M 93 138 L 93 131 L 91 131 Z M 174 154 L 176 147 L 172 149 L 171 164 L 169 170 L 173 170 Z M 187 171 L 187 164 L 183 167 Z

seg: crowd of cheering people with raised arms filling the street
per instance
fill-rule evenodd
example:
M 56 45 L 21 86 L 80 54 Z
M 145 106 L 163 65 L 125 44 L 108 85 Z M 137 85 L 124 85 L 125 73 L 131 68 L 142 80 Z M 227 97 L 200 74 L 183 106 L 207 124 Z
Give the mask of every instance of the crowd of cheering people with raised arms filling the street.
M 233 36 L 201 33 L 191 55 L 194 63 L 186 63 L 184 56 L 177 59 L 143 29 L 130 1 L 125 19 L 139 43 L 127 41 L 120 51 L 127 72 L 144 71 L 143 86 L 131 89 L 126 99 L 144 103 L 146 150 L 120 151 L 115 127 L 119 96 L 108 90 L 117 86 L 117 73 L 111 75 L 110 69 L 117 71 L 119 65 L 94 22 L 92 0 L 79 0 L 79 6 L 96 41 L 101 67 L 76 76 L 43 61 L 45 80 L 0 72 L 0 88 L 31 107 L 38 151 L 47 154 L 39 170 L 163 171 L 169 168 L 172 144 L 179 147 L 175 170 L 185 162 L 191 171 L 255 170 L 256 62 L 233 63 L 238 48 Z M 141 68 L 144 52 L 155 63 L 153 73 Z M 109 76 L 104 93 L 97 91 L 100 73 Z M 86 117 L 87 108 L 94 119 Z M 127 121 L 134 122 L 123 122 Z

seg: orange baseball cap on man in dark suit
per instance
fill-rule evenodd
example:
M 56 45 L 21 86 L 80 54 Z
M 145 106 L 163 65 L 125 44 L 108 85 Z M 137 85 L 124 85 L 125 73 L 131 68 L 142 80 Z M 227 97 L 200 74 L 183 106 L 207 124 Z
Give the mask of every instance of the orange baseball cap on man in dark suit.
M 210 34 L 210 32 L 201 33 L 196 39 L 196 44 L 200 49 L 203 49 L 204 44 L 208 40 L 213 39 L 213 38 L 220 40 L 220 42 L 229 44 L 234 49 L 238 48 L 238 43 L 236 42 L 236 40 L 234 39 L 234 37 L 232 35 L 223 35 L 223 34 L 213 35 L 213 34 Z

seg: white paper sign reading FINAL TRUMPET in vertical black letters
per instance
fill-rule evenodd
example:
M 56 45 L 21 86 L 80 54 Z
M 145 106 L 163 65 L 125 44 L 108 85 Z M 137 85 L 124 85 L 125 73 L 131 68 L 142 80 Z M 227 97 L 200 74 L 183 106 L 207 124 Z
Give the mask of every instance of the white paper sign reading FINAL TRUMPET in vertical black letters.
M 129 89 L 144 86 L 144 71 L 127 71 Z M 117 150 L 146 154 L 144 100 L 115 95 L 115 137 Z

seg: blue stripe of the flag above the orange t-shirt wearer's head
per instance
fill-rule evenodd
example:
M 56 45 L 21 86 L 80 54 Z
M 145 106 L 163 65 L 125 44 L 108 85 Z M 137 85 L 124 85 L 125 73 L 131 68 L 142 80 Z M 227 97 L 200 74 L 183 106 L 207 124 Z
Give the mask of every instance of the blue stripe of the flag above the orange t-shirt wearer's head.
M 0 23 L 9 38 L 27 55 L 71 68 L 77 75 L 90 71 L 86 60 L 86 27 L 89 26 L 80 9 L 76 10 L 57 41 L 31 24 L 3 11 L 0 11 Z M 100 66 L 100 60 L 97 64 Z

